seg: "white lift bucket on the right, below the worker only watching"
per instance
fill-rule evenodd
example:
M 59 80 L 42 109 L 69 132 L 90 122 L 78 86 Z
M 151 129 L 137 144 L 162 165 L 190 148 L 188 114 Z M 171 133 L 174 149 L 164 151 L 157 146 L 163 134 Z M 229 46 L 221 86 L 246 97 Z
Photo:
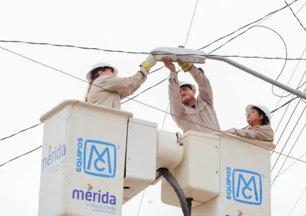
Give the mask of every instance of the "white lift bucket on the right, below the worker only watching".
M 243 215 L 271 216 L 271 151 L 269 150 L 275 146 L 270 142 L 236 135 L 227 136 L 220 133 L 218 135 L 220 136 L 220 195 L 193 208 L 192 215 L 238 215 L 241 211 Z

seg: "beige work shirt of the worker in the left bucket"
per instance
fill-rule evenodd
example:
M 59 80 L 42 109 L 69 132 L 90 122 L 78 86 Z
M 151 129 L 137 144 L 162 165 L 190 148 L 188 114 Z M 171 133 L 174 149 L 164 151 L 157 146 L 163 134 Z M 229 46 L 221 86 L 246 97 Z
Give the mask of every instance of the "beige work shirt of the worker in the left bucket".
M 91 85 L 87 102 L 120 109 L 121 100 L 132 95 L 146 78 L 146 69 L 143 67 L 131 77 L 102 75 Z

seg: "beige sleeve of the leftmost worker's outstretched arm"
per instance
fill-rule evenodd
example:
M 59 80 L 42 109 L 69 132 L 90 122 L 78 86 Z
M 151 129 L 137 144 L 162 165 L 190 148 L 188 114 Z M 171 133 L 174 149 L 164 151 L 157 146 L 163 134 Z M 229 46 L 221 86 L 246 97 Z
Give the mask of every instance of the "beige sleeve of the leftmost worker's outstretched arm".
M 125 92 L 132 90 L 136 91 L 140 85 L 146 80 L 147 73 L 139 70 L 131 77 L 109 76 L 106 79 L 101 79 L 95 85 L 101 86 L 109 91 Z

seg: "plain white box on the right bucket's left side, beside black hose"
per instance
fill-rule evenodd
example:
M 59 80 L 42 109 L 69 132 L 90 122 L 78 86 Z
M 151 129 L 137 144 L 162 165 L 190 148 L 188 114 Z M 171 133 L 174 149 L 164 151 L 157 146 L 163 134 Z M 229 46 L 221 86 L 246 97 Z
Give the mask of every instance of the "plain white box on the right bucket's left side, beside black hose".
M 186 198 L 193 198 L 193 207 L 215 198 L 219 187 L 219 136 L 187 131 L 182 136 L 184 154 L 172 174 Z M 165 179 L 162 179 L 162 202 L 180 207 L 179 200 Z

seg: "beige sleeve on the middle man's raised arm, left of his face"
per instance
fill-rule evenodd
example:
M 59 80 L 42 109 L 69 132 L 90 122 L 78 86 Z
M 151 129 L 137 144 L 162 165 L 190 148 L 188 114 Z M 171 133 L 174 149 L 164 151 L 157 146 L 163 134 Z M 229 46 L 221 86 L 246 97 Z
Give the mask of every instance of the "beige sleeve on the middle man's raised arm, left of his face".
M 175 115 L 172 116 L 172 118 L 175 122 L 178 122 L 180 120 L 180 118 L 178 117 L 183 116 L 183 105 L 179 93 L 179 81 L 177 79 L 176 72 L 175 73 L 170 72 L 168 93 L 169 93 L 170 113 Z

